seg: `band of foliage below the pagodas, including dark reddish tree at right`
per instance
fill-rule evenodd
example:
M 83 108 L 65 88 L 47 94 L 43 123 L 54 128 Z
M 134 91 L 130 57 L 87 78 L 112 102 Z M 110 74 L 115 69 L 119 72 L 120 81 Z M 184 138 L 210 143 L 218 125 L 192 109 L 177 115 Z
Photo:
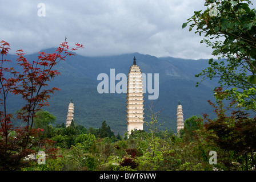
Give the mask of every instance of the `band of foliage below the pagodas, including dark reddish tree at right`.
M 182 138 L 169 132 L 153 133 L 135 130 L 125 140 L 99 135 L 79 134 L 74 127 L 55 128 L 55 157 L 47 157 L 46 164 L 31 162 L 23 170 L 250 170 L 255 166 L 255 119 L 243 112 L 227 117 L 216 90 L 218 105 L 214 105 L 217 119 L 207 115 L 186 120 Z M 225 92 L 222 92 L 225 93 Z M 209 101 L 210 102 L 210 101 Z M 210 102 L 210 104 L 212 104 Z M 213 104 L 212 104 L 213 105 Z M 80 128 L 80 127 L 79 127 Z M 87 130 L 89 131 L 89 130 Z M 91 130 L 93 131 L 93 130 Z M 12 134 L 15 136 L 15 134 Z M 189 136 L 186 138 L 186 136 Z M 216 151 L 218 164 L 209 164 L 209 152 Z M 236 166 L 235 166 L 236 164 Z

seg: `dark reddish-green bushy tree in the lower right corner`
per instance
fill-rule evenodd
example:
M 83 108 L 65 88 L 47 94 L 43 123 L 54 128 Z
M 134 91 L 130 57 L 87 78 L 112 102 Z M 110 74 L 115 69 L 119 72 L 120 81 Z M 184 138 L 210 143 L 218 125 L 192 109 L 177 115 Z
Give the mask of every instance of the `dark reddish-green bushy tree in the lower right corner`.
M 256 167 L 256 118 L 250 119 L 249 115 L 241 110 L 234 110 L 231 115 L 227 114 L 236 101 L 224 107 L 223 100 L 228 93 L 222 88 L 215 89 L 217 104 L 209 101 L 217 114 L 216 119 L 210 119 L 204 114 L 205 129 L 207 131 L 207 141 L 214 142 L 215 145 L 224 152 L 218 162 L 225 165 L 226 169 L 255 170 Z M 234 164 L 239 164 L 237 168 Z

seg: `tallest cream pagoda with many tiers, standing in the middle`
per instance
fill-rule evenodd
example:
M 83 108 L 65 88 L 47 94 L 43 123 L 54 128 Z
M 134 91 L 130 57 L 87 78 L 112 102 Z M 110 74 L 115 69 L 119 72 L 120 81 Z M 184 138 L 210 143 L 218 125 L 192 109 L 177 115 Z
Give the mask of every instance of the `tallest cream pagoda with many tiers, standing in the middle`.
M 127 131 L 143 130 L 143 88 L 141 69 L 136 64 L 134 56 L 133 65 L 130 67 L 127 80 L 126 108 Z

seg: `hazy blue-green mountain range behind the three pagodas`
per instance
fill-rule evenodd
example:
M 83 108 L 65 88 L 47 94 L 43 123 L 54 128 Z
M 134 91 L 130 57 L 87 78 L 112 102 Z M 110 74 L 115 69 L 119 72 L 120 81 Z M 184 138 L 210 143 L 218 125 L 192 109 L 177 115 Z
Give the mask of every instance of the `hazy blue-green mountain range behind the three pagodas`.
M 44 52 L 54 52 L 55 49 L 46 49 Z M 105 120 L 115 133 L 124 134 L 126 126 L 126 94 L 98 93 L 97 80 L 100 73 L 106 73 L 110 80 L 110 69 L 118 73 L 127 73 L 136 57 L 137 65 L 141 71 L 159 73 L 159 97 L 152 100 L 154 111 L 162 109 L 158 122 L 163 123 L 161 129 L 171 129 L 176 132 L 176 112 L 178 102 L 181 101 L 184 118 L 202 113 L 213 113 L 213 109 L 206 102 L 214 100 L 213 88 L 215 81 L 203 81 L 195 87 L 201 78 L 194 75 L 207 67 L 207 60 L 187 60 L 174 57 L 155 57 L 140 53 L 129 53 L 117 56 L 86 57 L 75 54 L 60 62 L 56 69 L 61 76 L 54 78 L 50 86 L 61 89 L 49 101 L 50 106 L 44 109 L 57 117 L 56 123 L 66 123 L 67 107 L 71 98 L 74 102 L 74 121 L 86 128 L 101 127 Z M 10 55 L 14 60 L 15 56 Z M 27 55 L 27 59 L 37 59 L 37 54 Z M 119 81 L 116 80 L 115 84 Z M 109 84 L 110 85 L 110 84 Z M 154 84 L 153 84 L 154 88 Z M 145 108 L 149 108 L 149 93 L 145 94 Z M 16 99 L 16 100 L 15 100 Z M 9 98 L 12 110 L 19 109 L 21 100 L 11 96 Z M 146 109 L 145 109 L 146 111 Z M 147 114 L 147 111 L 146 111 Z M 146 121 L 150 118 L 146 117 Z M 147 129 L 146 123 L 144 124 Z

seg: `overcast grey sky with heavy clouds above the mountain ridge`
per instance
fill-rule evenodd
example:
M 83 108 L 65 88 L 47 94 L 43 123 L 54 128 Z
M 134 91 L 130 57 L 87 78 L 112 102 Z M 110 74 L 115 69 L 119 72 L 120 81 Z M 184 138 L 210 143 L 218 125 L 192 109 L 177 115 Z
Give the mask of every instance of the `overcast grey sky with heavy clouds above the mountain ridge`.
M 81 43 L 84 56 L 139 52 L 153 56 L 207 59 L 211 48 L 182 29 L 205 0 L 0 1 L 0 39 L 26 53 Z M 45 16 L 38 16 L 38 3 Z M 41 12 L 41 11 L 40 11 Z

